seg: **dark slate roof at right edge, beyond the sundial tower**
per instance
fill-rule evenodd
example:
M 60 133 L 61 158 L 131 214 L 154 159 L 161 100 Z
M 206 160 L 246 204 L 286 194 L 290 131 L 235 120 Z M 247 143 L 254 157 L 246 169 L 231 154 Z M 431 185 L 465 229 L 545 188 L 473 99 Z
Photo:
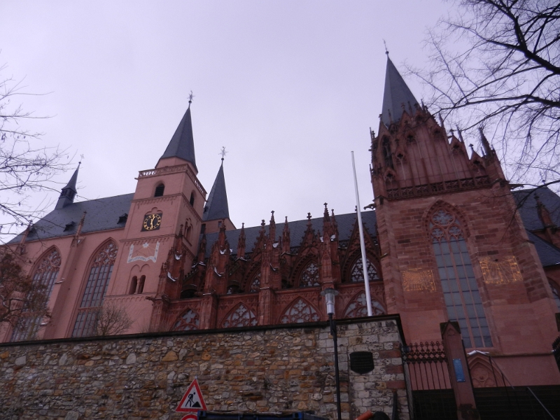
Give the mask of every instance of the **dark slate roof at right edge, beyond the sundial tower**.
M 540 202 L 545 204 L 549 211 L 550 218 L 556 226 L 560 226 L 560 197 L 547 187 L 532 188 L 531 190 L 512 191 L 513 197 L 519 207 L 519 214 L 521 220 L 527 230 L 541 230 L 544 229 L 542 221 L 538 217 L 537 200 L 535 193 L 538 195 Z

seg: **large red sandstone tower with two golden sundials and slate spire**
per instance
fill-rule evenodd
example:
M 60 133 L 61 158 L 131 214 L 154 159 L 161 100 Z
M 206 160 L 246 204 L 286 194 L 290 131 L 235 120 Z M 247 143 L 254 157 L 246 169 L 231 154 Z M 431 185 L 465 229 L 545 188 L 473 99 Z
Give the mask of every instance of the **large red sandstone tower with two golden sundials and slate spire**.
M 388 312 L 402 316 L 407 340 L 441 339 L 440 323 L 451 320 L 468 349 L 511 360 L 549 351 L 556 307 L 484 134 L 483 152 L 469 153 L 389 58 L 379 117 L 371 176 L 381 269 Z M 538 338 L 524 339 L 528 331 Z

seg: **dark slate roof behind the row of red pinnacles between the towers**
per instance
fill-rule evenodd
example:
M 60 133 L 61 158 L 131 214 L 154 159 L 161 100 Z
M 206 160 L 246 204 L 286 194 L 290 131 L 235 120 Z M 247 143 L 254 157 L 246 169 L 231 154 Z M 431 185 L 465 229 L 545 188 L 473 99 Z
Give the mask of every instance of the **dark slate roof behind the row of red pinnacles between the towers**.
M 339 241 L 347 241 L 350 239 L 350 235 L 352 234 L 352 230 L 354 227 L 354 223 L 356 223 L 356 213 L 349 213 L 349 214 L 339 214 L 335 216 L 337 224 L 338 224 L 338 235 Z M 362 212 L 362 222 L 363 227 L 370 234 L 371 237 L 377 236 L 376 230 L 376 217 L 375 211 L 363 211 Z M 276 238 L 281 237 L 282 230 L 284 227 L 283 221 L 280 223 L 276 223 Z M 293 221 L 288 222 L 288 228 L 290 228 L 290 248 L 295 246 L 300 246 L 304 233 L 307 230 L 307 219 L 302 221 Z M 323 217 L 312 218 L 311 219 L 311 228 L 315 231 L 315 233 L 323 231 Z M 255 241 L 257 241 L 259 232 L 261 227 L 260 226 L 253 226 L 251 228 L 245 228 L 245 252 L 250 253 L 253 252 L 253 246 L 255 245 Z M 268 235 L 269 225 L 265 225 L 265 233 Z M 239 234 L 241 233 L 241 229 L 236 230 L 226 230 L 225 237 L 228 239 L 230 244 L 230 248 L 232 249 L 232 253 L 237 254 L 237 241 L 239 241 Z M 206 257 L 210 256 L 210 250 L 212 244 L 218 240 L 218 232 L 210 233 L 206 235 L 207 245 L 206 245 Z M 201 238 L 202 239 L 202 235 Z M 200 243 L 200 242 L 199 242 Z

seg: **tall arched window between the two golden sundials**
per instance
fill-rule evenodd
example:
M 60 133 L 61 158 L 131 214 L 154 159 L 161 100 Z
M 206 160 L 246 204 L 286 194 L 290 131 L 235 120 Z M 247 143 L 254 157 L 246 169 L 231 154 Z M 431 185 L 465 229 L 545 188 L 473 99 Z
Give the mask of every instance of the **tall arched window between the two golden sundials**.
M 491 347 L 492 339 L 482 307 L 475 273 L 461 223 L 449 211 L 436 210 L 430 236 L 450 321 L 457 321 L 465 347 Z

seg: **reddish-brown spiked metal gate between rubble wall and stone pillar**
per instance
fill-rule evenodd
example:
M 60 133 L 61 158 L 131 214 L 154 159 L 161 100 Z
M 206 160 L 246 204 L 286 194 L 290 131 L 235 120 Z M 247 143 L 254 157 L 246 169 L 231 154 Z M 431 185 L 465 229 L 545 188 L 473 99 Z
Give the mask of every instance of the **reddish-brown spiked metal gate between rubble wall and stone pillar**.
M 456 419 L 457 406 L 443 343 L 420 342 L 403 346 L 402 364 L 411 419 Z

